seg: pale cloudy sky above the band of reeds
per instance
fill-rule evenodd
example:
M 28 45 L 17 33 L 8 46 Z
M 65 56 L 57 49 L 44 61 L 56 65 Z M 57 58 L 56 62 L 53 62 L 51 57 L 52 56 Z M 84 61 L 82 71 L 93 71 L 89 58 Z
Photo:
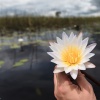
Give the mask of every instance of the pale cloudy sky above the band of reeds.
M 100 16 L 100 0 L 0 0 L 0 10 L 13 10 L 44 16 Z

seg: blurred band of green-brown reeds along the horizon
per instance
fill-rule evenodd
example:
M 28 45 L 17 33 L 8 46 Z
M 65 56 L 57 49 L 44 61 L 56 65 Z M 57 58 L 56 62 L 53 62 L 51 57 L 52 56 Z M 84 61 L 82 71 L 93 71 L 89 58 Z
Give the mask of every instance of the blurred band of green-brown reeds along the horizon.
M 39 31 L 40 29 L 58 29 L 80 25 L 100 30 L 100 17 L 0 17 L 0 31 L 11 34 L 11 31 Z M 6 31 L 6 32 L 5 32 Z

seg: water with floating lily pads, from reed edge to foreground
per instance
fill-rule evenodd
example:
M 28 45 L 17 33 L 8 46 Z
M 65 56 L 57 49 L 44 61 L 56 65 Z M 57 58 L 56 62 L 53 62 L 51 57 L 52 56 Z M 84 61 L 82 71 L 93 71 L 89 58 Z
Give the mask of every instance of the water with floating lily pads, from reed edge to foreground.
M 56 36 L 61 37 L 62 31 L 45 31 L 41 34 L 38 32 L 31 36 L 21 36 L 24 39 L 22 51 L 18 43 L 20 36 L 14 36 L 10 39 L 8 37 L 0 38 L 2 44 L 0 61 L 3 61 L 0 69 L 1 100 L 55 100 L 53 94 L 53 69 L 55 65 L 50 63 L 51 57 L 46 52 L 50 51 L 48 42 L 55 41 Z M 71 30 L 65 31 L 68 34 L 71 32 Z M 86 36 L 91 37 L 89 43 L 97 42 L 89 32 L 84 32 L 84 37 Z M 11 48 L 12 44 L 17 46 Z M 100 81 L 99 49 L 97 47 L 93 51 L 96 55 L 91 59 L 91 62 L 97 67 L 86 71 L 98 81 Z M 92 82 L 91 84 L 98 100 L 100 100 L 100 87 Z

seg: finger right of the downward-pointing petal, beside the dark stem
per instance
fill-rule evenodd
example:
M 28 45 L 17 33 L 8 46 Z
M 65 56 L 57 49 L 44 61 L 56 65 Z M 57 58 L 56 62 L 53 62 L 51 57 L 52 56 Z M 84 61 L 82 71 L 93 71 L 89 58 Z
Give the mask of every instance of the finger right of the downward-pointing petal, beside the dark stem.
M 89 82 L 84 77 L 84 74 L 82 74 L 80 71 L 78 73 L 76 81 L 78 85 L 81 87 L 81 89 L 89 89 Z

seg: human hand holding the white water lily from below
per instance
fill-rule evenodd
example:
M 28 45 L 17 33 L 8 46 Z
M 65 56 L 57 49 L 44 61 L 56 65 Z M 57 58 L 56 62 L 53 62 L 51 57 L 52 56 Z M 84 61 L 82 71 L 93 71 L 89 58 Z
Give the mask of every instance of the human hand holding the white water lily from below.
M 78 85 L 70 81 L 64 72 L 54 74 L 54 95 L 57 100 L 96 100 L 91 84 L 79 72 Z M 80 88 L 79 88 L 80 87 Z

